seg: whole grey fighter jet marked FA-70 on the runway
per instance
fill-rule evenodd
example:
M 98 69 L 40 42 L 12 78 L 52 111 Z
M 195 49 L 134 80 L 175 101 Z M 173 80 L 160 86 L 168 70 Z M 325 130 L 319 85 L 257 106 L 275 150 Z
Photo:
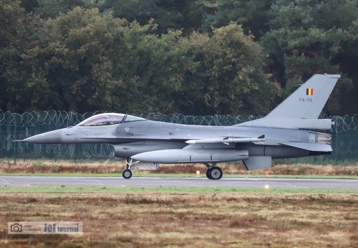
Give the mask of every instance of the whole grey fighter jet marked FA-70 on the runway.
M 219 180 L 217 163 L 243 161 L 246 169 L 270 167 L 272 158 L 330 154 L 332 120 L 318 119 L 340 75 L 315 74 L 266 117 L 232 126 L 182 125 L 129 114 L 104 113 L 23 141 L 37 144 L 109 143 L 118 160 L 132 169 L 157 169 L 159 163 L 203 163 L 206 176 Z

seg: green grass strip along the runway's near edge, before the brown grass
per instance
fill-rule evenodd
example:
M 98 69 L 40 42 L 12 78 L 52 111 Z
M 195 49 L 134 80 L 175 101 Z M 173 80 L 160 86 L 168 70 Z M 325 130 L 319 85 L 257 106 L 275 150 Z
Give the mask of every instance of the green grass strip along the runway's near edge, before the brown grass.
M 252 194 L 358 194 L 354 189 L 263 189 L 250 187 L 108 187 L 108 186 L 34 186 L 34 187 L 0 187 L 0 193 L 80 193 L 80 192 L 143 192 L 143 193 L 252 193 Z

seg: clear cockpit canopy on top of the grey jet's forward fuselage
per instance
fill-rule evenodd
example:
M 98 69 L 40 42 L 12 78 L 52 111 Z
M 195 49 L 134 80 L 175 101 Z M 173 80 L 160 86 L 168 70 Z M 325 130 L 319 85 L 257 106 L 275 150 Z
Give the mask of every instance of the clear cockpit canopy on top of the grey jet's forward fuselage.
M 77 126 L 95 126 L 95 125 L 113 125 L 119 124 L 123 121 L 144 121 L 145 118 L 140 118 L 137 116 L 130 116 L 126 114 L 117 114 L 117 113 L 103 113 L 96 114 L 81 123 L 77 124 Z

